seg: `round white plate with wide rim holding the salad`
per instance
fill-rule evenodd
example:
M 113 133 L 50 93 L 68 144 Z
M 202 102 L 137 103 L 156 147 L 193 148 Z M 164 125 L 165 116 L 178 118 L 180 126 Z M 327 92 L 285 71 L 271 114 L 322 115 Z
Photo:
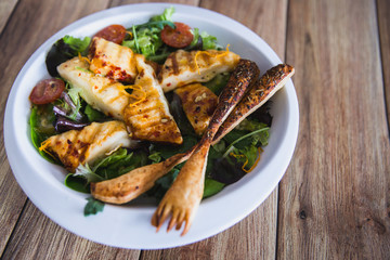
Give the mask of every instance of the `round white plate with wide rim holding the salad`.
M 44 57 L 50 47 L 65 35 L 92 36 L 109 24 L 146 22 L 152 15 L 174 5 L 173 20 L 184 22 L 217 36 L 219 43 L 257 62 L 264 73 L 281 63 L 274 51 L 242 24 L 209 10 L 180 4 L 132 4 L 105 10 L 69 26 L 47 40 L 18 74 L 6 103 L 4 119 L 5 148 L 14 176 L 29 199 L 64 229 L 96 243 L 132 249 L 157 249 L 198 242 L 232 226 L 256 209 L 275 188 L 287 169 L 298 135 L 298 101 L 289 80 L 273 99 L 274 116 L 269 145 L 252 172 L 202 202 L 190 232 L 160 232 L 151 224 L 155 207 L 106 205 L 103 212 L 83 217 L 88 195 L 66 187 L 66 171 L 44 160 L 31 145 L 28 95 L 42 78 L 49 78 Z M 255 223 L 253 223 L 255 224 Z

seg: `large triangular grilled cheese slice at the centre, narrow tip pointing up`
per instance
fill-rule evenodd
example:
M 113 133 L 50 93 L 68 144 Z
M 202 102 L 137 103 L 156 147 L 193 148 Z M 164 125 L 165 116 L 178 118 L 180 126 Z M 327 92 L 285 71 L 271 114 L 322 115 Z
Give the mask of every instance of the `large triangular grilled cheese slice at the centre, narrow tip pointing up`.
M 134 87 L 141 87 L 144 96 L 130 103 L 123 110 L 125 122 L 131 128 L 132 138 L 181 144 L 183 138 L 169 112 L 167 99 L 153 67 L 145 62 L 143 55 L 136 54 L 135 60 L 139 75 Z M 132 94 L 142 98 L 140 92 L 134 90 Z

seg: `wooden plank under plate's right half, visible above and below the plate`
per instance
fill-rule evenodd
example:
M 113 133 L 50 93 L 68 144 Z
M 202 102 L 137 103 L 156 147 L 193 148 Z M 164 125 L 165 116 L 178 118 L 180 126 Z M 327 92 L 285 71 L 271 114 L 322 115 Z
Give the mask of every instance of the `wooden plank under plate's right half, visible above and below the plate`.
M 284 57 L 286 1 L 235 0 L 229 4 L 223 1 L 203 1 L 202 8 L 243 23 Z M 273 21 L 274 15 L 277 15 L 280 22 L 270 25 L 269 21 Z M 231 229 L 192 245 L 143 251 L 141 259 L 272 259 L 276 249 L 276 222 L 277 188 L 257 210 Z

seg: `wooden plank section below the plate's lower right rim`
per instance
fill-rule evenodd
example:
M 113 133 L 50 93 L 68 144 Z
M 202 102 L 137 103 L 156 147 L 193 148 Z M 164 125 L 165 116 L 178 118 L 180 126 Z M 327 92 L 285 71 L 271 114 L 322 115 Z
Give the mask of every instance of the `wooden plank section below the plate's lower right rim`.
M 187 246 L 146 250 L 146 259 L 273 259 L 276 242 L 277 188 L 252 213 L 231 229 Z

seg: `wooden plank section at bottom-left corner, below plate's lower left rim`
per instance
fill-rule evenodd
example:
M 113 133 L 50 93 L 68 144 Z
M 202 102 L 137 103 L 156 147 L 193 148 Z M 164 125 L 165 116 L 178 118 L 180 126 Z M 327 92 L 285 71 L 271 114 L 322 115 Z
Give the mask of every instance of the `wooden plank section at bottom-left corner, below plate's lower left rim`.
M 138 259 L 138 250 L 92 243 L 62 229 L 28 202 L 3 259 Z

